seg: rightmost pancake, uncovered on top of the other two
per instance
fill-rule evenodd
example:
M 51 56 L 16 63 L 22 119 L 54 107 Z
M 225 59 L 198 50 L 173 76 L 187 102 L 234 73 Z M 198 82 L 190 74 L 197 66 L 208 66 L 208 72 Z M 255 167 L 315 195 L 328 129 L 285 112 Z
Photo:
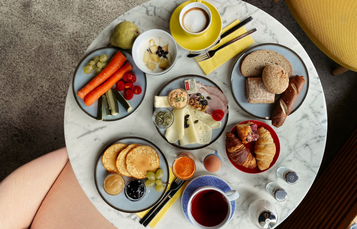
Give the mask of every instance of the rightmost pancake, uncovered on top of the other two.
M 160 167 L 158 153 L 149 146 L 138 146 L 126 155 L 126 169 L 136 179 L 146 178 L 146 172 Z

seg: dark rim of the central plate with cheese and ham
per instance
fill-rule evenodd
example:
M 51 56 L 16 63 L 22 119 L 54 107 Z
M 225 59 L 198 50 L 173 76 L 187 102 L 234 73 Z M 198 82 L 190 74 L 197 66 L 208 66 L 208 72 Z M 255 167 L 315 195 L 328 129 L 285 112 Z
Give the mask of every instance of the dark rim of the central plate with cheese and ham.
M 159 96 L 159 94 L 164 90 L 164 88 L 166 87 L 166 85 L 169 84 L 169 83 L 171 83 L 172 81 L 174 81 L 174 80 L 176 80 L 176 79 L 180 79 L 180 78 L 187 78 L 187 77 L 189 77 L 189 76 L 194 76 L 193 78 L 195 78 L 195 77 L 197 77 L 197 76 L 200 77 L 200 78 L 205 78 L 205 80 L 211 82 L 211 83 L 214 85 L 214 87 L 218 88 L 218 89 L 223 93 L 222 89 L 221 89 L 215 82 L 213 82 L 211 79 L 206 78 L 205 76 L 200 76 L 200 75 L 195 75 L 195 74 L 187 74 L 187 75 L 177 76 L 177 77 L 171 79 L 170 81 L 168 81 L 167 83 L 165 83 L 165 84 L 161 87 L 161 89 L 159 90 L 159 92 L 158 92 L 156 95 Z M 224 93 L 223 93 L 223 94 L 224 94 Z M 225 95 L 224 95 L 224 96 L 225 96 Z M 173 146 L 173 147 L 176 147 L 176 148 L 179 148 L 179 149 L 182 149 L 182 150 L 198 150 L 198 149 L 202 149 L 202 148 L 208 147 L 208 146 L 210 146 L 211 144 L 213 144 L 213 142 L 215 142 L 216 140 L 218 140 L 218 138 L 219 138 L 219 137 L 222 135 L 222 133 L 224 132 L 224 130 L 225 130 L 226 126 L 227 126 L 227 123 L 228 123 L 228 116 L 229 116 L 229 114 L 230 114 L 230 112 L 229 112 L 229 110 L 230 110 L 229 105 L 227 105 L 227 109 L 228 109 L 228 113 L 226 114 L 226 120 L 225 120 L 224 125 L 221 126 L 221 128 L 223 127 L 222 130 L 221 130 L 221 132 L 218 134 L 218 136 L 217 136 L 216 138 L 214 138 L 213 140 L 211 139 L 210 143 L 209 143 L 209 144 L 206 144 L 206 145 L 201 145 L 201 146 L 193 147 L 193 148 L 192 148 L 192 147 L 185 147 L 185 146 L 175 146 L 175 145 L 173 145 L 172 143 L 168 142 L 168 140 L 166 139 L 165 135 L 162 134 L 162 133 L 159 131 L 160 128 L 158 128 L 158 127 L 156 127 L 156 126 L 155 126 L 155 128 L 156 128 L 156 130 L 159 132 L 159 134 L 161 135 L 161 137 L 164 138 L 164 140 L 165 140 L 166 142 L 168 142 L 168 144 L 170 144 L 170 145 Z M 155 106 L 152 106 L 152 113 L 154 113 L 154 111 L 155 111 Z M 189 145 L 193 145 L 193 144 L 189 144 Z

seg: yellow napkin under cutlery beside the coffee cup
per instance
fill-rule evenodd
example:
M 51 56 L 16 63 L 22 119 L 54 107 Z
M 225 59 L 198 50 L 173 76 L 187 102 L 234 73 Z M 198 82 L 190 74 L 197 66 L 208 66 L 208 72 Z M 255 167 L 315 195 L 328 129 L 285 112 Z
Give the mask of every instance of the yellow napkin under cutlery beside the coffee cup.
M 223 28 L 221 34 L 235 26 L 236 24 L 239 23 L 239 20 L 235 20 L 232 22 L 230 25 L 227 27 Z M 240 27 L 238 30 L 233 32 L 232 34 L 224 37 L 217 45 L 213 46 L 211 49 L 216 49 L 222 44 L 227 43 L 230 40 L 235 39 L 236 37 L 246 33 L 247 31 L 245 30 L 244 27 Z M 228 45 L 227 47 L 222 48 L 216 54 L 213 56 L 213 58 L 208 59 L 206 61 L 201 61 L 198 62 L 199 67 L 201 67 L 202 71 L 205 72 L 206 75 L 211 73 L 213 70 L 224 64 L 226 61 L 230 60 L 233 58 L 233 56 L 237 55 L 244 49 L 246 49 L 249 45 L 254 43 L 253 39 L 250 36 L 247 36 L 245 38 L 242 38 L 239 41 L 234 42 L 233 44 Z M 210 50 L 211 50 L 210 49 Z

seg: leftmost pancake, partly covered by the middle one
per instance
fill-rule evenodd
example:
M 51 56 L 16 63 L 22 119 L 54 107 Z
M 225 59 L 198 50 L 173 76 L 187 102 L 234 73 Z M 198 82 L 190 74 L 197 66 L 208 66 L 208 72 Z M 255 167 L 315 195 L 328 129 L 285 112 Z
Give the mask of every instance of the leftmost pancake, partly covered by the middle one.
M 109 171 L 109 173 L 118 173 L 115 162 L 120 151 L 125 149 L 127 145 L 118 143 L 110 146 L 101 157 L 101 162 L 103 162 L 104 167 Z

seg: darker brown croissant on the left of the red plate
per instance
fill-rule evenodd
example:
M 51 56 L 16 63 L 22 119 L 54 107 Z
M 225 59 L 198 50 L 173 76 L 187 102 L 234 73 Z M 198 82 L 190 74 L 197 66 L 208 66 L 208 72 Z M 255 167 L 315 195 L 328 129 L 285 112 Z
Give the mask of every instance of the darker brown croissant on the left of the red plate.
M 234 133 L 227 132 L 225 136 L 225 146 L 232 161 L 246 168 L 257 167 L 256 159 Z

